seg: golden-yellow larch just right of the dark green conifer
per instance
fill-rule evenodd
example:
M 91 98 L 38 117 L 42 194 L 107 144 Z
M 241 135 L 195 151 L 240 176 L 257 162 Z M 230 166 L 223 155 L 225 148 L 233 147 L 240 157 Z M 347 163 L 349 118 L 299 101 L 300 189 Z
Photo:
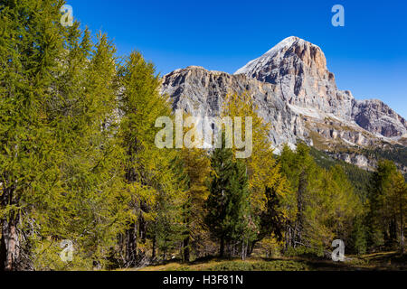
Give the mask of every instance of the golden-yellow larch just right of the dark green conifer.
M 251 117 L 252 152 L 249 157 L 241 159 L 247 167 L 251 191 L 251 221 L 257 232 L 257 237 L 253 238 L 249 247 L 249 254 L 262 238 L 272 233 L 277 237 L 281 236 L 281 222 L 292 213 L 290 203 L 294 195 L 273 154 L 269 139 L 272 124 L 259 117 L 258 109 L 250 92 L 229 94 L 222 106 L 222 116 L 232 119 L 241 117 L 241 134 L 246 131 L 246 117 Z M 236 133 L 237 127 L 234 129 Z M 236 147 L 233 147 L 233 152 L 236 151 Z

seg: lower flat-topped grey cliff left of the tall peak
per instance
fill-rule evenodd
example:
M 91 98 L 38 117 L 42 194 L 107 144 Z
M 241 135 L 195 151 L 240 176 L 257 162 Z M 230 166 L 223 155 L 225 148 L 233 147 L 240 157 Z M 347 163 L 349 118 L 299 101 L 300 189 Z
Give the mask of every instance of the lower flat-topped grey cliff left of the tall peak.
M 279 87 L 245 75 L 192 66 L 167 74 L 163 79 L 162 92 L 172 98 L 174 109 L 208 117 L 220 115 L 227 94 L 247 92 L 259 107 L 260 117 L 271 124 L 270 139 L 273 144 L 295 144 L 298 135 L 304 137 L 300 117 L 278 97 Z

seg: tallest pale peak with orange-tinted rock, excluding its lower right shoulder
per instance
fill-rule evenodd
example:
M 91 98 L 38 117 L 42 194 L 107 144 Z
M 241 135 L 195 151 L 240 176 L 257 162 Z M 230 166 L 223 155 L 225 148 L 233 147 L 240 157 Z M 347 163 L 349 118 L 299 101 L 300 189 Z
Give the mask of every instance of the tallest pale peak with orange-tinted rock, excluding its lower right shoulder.
M 298 107 L 316 108 L 350 120 L 354 98 L 336 88 L 335 76 L 327 70 L 324 52 L 310 42 L 289 37 L 257 60 L 237 70 L 279 86 L 281 98 Z

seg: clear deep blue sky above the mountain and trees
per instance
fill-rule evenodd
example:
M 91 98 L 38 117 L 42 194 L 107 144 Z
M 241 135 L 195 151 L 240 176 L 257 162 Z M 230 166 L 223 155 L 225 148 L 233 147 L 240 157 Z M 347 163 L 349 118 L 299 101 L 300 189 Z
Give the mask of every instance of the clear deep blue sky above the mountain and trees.
M 407 1 L 67 0 L 118 55 L 141 51 L 161 74 L 189 65 L 234 72 L 288 36 L 317 44 L 339 89 L 407 117 Z M 345 7 L 345 27 L 331 8 Z

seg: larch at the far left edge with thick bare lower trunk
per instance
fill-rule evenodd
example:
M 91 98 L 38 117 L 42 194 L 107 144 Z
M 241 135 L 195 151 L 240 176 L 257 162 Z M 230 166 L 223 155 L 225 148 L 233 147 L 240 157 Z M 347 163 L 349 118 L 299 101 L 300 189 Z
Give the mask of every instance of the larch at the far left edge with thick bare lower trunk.
M 59 156 L 44 108 L 64 41 L 54 4 L 0 2 L 0 269 L 5 270 L 24 267 L 24 217 L 58 193 L 52 179 Z

